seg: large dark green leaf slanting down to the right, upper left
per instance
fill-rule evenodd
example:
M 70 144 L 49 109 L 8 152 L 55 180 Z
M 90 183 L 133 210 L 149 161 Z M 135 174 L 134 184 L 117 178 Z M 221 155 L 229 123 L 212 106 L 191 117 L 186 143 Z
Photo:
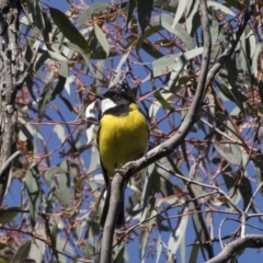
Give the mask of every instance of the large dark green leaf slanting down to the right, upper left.
M 67 15 L 58 9 L 50 8 L 50 15 L 54 20 L 54 23 L 61 31 L 61 33 L 73 44 L 87 50 L 87 41 L 77 30 L 77 27 L 71 23 Z

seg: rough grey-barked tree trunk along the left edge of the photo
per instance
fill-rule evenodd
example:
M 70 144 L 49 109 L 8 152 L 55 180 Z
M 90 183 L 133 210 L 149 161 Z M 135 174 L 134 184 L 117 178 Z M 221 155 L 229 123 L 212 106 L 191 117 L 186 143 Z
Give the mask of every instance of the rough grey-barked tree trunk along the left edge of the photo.
M 20 0 L 0 0 L 0 205 L 11 164 L 8 159 L 15 151 L 15 95 L 19 79 L 19 15 Z

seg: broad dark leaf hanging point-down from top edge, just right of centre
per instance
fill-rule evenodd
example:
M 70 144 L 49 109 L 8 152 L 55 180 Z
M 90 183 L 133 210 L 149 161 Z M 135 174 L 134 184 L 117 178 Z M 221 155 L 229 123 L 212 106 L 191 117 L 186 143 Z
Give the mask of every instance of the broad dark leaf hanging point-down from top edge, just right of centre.
M 153 0 L 137 1 L 138 20 L 139 20 L 139 25 L 142 34 L 150 21 L 152 7 L 153 7 Z

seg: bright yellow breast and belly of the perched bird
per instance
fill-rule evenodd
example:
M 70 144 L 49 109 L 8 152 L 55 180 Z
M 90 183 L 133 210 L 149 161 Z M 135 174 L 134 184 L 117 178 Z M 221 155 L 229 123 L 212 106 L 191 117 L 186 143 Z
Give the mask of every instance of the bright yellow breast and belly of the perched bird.
M 148 145 L 148 127 L 138 106 L 133 104 L 128 115 L 105 114 L 100 122 L 99 151 L 108 176 L 115 169 L 142 156 Z

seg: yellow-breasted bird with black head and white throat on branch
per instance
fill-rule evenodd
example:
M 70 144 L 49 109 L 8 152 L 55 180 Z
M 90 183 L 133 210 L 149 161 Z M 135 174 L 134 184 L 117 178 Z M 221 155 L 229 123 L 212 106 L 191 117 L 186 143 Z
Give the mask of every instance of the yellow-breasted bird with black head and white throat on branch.
M 148 146 L 149 130 L 145 116 L 135 99 L 124 90 L 108 90 L 101 100 L 101 118 L 98 133 L 98 147 L 101 167 L 106 184 L 106 198 L 101 216 L 101 227 L 104 227 L 111 195 L 111 180 L 116 169 L 126 162 L 141 157 Z M 116 217 L 115 227 L 125 225 L 124 191 L 122 207 Z

